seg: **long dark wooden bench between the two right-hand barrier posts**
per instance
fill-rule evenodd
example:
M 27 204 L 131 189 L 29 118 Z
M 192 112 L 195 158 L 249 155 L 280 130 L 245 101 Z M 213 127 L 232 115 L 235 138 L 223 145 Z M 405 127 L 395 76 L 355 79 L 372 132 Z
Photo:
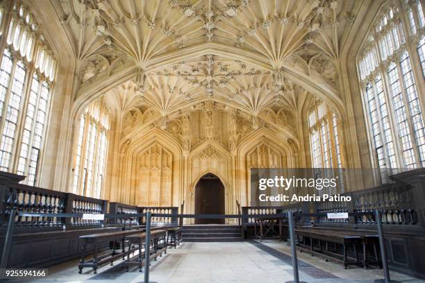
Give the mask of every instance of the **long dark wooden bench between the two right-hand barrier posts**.
M 353 234 L 344 234 L 343 232 L 333 232 L 326 230 L 315 230 L 312 228 L 297 228 L 295 229 L 297 234 L 299 248 L 306 250 L 311 255 L 319 255 L 325 258 L 326 261 L 331 259 L 333 261 L 340 261 L 344 264 L 344 268 L 347 268 L 351 264 L 360 264 L 358 259 L 357 246 L 362 244 L 363 238 Z M 299 240 L 299 237 L 303 237 L 303 241 Z M 310 239 L 309 245 L 306 243 L 306 239 Z M 319 242 L 319 250 L 315 250 L 314 241 Z M 322 249 L 322 241 L 325 242 L 325 249 Z M 342 245 L 342 255 L 338 253 L 338 250 L 329 250 L 329 243 L 338 243 Z M 356 260 L 350 260 L 347 257 L 347 246 L 353 246 Z

